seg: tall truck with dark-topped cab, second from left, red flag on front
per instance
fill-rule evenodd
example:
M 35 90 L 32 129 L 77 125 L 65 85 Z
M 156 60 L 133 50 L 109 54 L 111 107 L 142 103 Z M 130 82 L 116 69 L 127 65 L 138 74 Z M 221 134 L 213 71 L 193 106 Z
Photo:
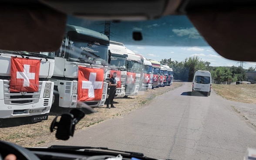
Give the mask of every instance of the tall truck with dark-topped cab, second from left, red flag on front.
M 77 107 L 84 102 L 91 107 L 104 105 L 108 84 L 108 37 L 83 27 L 67 25 L 63 45 L 56 52 L 54 106 Z

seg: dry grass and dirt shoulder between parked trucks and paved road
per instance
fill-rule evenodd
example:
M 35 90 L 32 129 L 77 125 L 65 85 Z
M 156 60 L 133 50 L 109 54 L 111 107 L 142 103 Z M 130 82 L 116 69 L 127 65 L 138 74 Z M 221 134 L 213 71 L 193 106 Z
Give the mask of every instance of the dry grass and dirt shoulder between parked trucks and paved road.
M 115 98 L 115 107 L 108 109 L 106 105 L 96 107 L 97 113 L 86 115 L 76 126 L 76 130 L 82 130 L 104 120 L 115 118 L 130 113 L 142 106 L 145 106 L 155 97 L 162 95 L 170 90 L 182 86 L 183 82 L 174 82 L 172 86 L 155 88 L 153 90 L 140 91 L 138 96 L 128 98 Z M 54 113 L 48 120 L 34 124 L 26 124 L 16 127 L 6 127 L 0 129 L 0 140 L 17 143 L 24 147 L 44 146 L 47 142 L 55 141 L 55 133 L 50 133 L 50 125 L 54 119 Z

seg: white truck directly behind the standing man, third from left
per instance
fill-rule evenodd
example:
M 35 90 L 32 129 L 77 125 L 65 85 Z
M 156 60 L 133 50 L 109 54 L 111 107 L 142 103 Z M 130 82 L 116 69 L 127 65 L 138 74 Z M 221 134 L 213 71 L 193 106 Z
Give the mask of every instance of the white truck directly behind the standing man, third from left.
M 115 78 L 117 81 L 115 97 L 125 97 L 125 83 L 126 83 L 126 57 L 127 50 L 125 45 L 120 42 L 110 41 L 109 47 L 109 67 L 107 71 L 107 80 L 108 83 L 113 73 L 117 73 Z

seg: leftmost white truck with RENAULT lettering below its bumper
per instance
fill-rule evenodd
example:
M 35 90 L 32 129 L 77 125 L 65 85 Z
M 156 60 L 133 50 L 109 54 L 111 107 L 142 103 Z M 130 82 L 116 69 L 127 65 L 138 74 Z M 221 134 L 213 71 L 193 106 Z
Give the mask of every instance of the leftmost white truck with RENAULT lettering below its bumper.
M 54 83 L 54 53 L 0 50 L 0 122 L 27 117 L 47 120 Z

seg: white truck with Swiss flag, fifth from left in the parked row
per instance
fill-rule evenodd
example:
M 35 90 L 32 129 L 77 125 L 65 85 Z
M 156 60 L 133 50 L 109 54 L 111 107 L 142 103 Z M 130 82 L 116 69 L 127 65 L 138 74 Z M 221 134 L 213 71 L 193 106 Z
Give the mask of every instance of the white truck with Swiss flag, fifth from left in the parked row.
M 152 89 L 152 81 L 153 81 L 153 67 L 152 63 L 147 60 L 145 57 L 138 55 L 141 57 L 141 62 L 143 64 L 141 70 L 141 79 L 139 89 L 146 90 Z

